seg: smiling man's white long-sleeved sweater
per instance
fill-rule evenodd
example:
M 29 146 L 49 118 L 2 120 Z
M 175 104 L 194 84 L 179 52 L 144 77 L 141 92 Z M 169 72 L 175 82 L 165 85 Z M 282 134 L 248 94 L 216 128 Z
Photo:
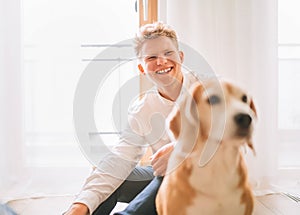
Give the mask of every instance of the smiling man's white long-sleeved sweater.
M 196 80 L 194 74 L 183 73 L 183 87 L 177 101 Z M 127 178 L 147 147 L 151 146 L 155 153 L 170 143 L 165 119 L 174 105 L 175 102 L 163 98 L 156 87 L 134 102 L 129 109 L 128 127 L 122 131 L 119 143 L 86 179 L 75 202 L 87 205 L 92 213 Z

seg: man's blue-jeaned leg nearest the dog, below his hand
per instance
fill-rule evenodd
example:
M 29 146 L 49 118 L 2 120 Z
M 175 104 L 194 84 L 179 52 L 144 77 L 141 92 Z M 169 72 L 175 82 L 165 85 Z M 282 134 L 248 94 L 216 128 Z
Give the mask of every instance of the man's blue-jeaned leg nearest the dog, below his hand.
M 155 198 L 163 177 L 155 177 L 151 183 L 137 195 L 124 211 L 114 215 L 157 215 Z

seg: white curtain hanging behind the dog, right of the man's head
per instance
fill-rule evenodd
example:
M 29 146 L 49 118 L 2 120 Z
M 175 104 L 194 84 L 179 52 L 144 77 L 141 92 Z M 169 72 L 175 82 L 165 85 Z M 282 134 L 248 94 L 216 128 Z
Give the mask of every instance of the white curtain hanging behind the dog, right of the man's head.
M 277 175 L 277 5 L 273 0 L 167 0 L 166 21 L 225 78 L 253 95 L 257 155 L 247 154 L 254 185 Z

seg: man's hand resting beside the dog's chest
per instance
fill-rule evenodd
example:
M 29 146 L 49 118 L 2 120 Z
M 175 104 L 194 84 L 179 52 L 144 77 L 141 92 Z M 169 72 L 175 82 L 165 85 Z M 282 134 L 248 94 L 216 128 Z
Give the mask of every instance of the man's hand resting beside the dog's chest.
M 151 165 L 155 176 L 164 176 L 166 174 L 169 157 L 174 149 L 174 143 L 169 143 L 161 147 L 150 157 Z

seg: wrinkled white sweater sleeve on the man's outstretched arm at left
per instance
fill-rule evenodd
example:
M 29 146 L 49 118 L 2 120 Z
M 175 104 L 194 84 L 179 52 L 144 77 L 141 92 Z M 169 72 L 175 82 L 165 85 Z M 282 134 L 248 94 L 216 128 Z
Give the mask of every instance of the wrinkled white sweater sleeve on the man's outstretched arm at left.
M 129 127 L 125 129 L 119 143 L 101 159 L 86 179 L 75 203 L 87 205 L 92 214 L 129 176 L 145 149 L 144 137 Z

